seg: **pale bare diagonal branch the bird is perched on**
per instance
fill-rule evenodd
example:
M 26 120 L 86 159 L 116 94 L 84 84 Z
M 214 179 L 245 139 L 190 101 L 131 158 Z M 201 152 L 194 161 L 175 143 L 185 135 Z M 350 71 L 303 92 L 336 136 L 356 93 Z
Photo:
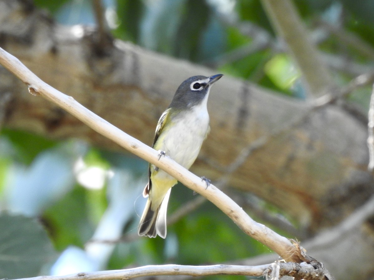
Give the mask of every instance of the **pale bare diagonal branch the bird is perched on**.
M 129 136 L 119 128 L 114 127 L 109 122 L 76 102 L 73 97 L 67 96 L 46 84 L 16 57 L 10 55 L 1 48 L 0 63 L 16 75 L 16 77 L 18 77 L 22 82 L 27 84 L 31 94 L 34 96 L 42 96 L 47 100 L 52 101 L 61 108 L 70 112 L 76 118 L 80 119 L 93 130 L 104 135 L 108 139 L 113 140 L 129 152 L 132 152 L 140 158 L 165 170 L 185 186 L 200 193 L 200 195 L 214 203 L 246 234 L 268 246 L 270 249 L 282 256 L 286 261 L 300 262 L 306 259 L 305 256 L 302 255 L 300 248 L 295 246 L 289 239 L 275 233 L 262 224 L 256 223 L 242 208 L 230 199 L 230 197 L 225 195 L 215 186 L 211 185 L 206 189 L 206 184 L 201 180 L 201 178 L 181 167 L 171 158 L 162 157 L 159 160 L 158 152 L 156 150 L 143 144 L 134 137 Z

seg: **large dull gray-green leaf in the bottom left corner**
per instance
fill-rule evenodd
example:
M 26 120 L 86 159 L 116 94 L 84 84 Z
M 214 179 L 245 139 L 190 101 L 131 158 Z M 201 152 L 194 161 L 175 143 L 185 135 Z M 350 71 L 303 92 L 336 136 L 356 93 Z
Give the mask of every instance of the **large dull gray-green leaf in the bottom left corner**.
M 45 229 L 34 218 L 3 213 L 0 228 L 0 278 L 37 276 L 57 256 Z

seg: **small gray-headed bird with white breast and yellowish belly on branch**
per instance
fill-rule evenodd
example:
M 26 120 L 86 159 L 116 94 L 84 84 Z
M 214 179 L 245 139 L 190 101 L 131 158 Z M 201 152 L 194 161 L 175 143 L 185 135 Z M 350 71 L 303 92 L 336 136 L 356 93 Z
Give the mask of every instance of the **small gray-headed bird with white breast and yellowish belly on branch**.
M 159 159 L 169 156 L 184 168 L 191 167 L 210 130 L 206 106 L 209 91 L 222 76 L 198 75 L 181 83 L 157 123 L 152 147 L 159 151 Z M 148 183 L 143 191 L 148 199 L 138 226 L 140 236 L 166 238 L 166 211 L 171 188 L 177 183 L 162 169 L 148 165 Z

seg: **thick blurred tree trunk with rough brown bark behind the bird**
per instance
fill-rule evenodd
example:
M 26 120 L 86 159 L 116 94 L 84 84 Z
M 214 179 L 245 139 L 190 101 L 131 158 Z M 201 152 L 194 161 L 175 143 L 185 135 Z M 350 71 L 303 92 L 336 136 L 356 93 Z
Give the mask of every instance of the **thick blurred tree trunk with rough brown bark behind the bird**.
M 98 49 L 94 31 L 56 25 L 24 3 L 28 1 L 0 1 L 0 46 L 46 83 L 144 143 L 151 144 L 160 114 L 184 79 L 218 74 L 122 41 Z M 0 68 L 0 99 L 8 93 L 5 127 L 120 149 L 62 109 L 32 96 Z M 208 110 L 211 133 L 191 170 L 219 179 L 243 149 L 267 137 L 229 184 L 275 204 L 312 233 L 338 223 L 373 193 L 367 124 L 339 106 L 313 109 L 225 75 L 212 89 Z M 370 245 L 361 251 L 367 259 L 374 259 L 372 234 L 372 227 L 355 233 L 358 244 Z

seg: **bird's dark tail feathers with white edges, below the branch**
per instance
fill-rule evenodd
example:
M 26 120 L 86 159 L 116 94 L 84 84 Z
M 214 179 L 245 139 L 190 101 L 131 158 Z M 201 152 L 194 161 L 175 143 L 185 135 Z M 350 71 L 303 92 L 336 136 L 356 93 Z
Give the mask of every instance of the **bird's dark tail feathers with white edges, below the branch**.
M 148 196 L 147 204 L 138 226 L 138 234 L 140 236 L 156 237 L 158 234 L 162 238 L 166 237 L 166 210 L 168 209 L 170 191 L 171 188 L 156 210 L 152 210 L 151 196 Z

